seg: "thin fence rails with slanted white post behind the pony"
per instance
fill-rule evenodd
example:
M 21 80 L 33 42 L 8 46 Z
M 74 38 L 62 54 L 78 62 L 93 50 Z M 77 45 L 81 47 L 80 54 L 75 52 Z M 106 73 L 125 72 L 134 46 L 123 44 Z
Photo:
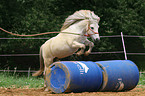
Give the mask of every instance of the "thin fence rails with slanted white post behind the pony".
M 122 39 L 122 46 L 123 46 L 123 51 L 114 51 L 114 52 L 91 52 L 91 54 L 123 54 L 124 57 L 127 60 L 127 55 L 145 55 L 145 53 L 127 53 L 125 49 L 125 43 L 124 43 L 124 37 L 145 37 L 145 36 L 134 36 L 134 35 L 123 35 L 121 32 L 121 35 L 113 35 L 113 36 L 100 36 L 101 38 L 116 38 L 120 37 Z M 33 40 L 40 40 L 40 39 L 48 39 L 48 38 L 0 38 L 0 40 L 18 40 L 18 39 L 33 39 Z M 9 56 L 39 56 L 39 54 L 0 54 L 0 56 L 4 57 L 9 57 Z M 30 75 L 30 72 L 35 72 L 34 70 L 0 70 L 0 72 L 28 72 L 28 77 Z M 140 72 L 140 73 L 145 73 L 145 72 Z

